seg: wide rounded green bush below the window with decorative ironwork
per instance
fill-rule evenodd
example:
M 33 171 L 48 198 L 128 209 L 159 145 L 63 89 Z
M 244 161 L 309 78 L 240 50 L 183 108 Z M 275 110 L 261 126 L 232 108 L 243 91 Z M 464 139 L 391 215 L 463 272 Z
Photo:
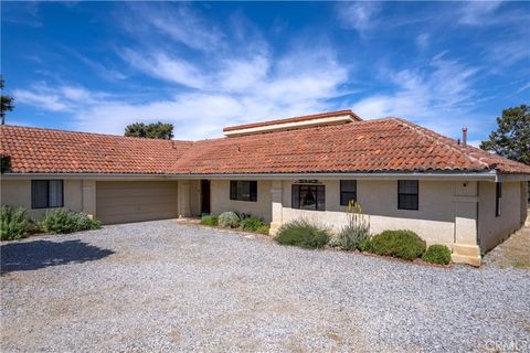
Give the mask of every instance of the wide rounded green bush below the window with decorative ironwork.
M 330 232 L 306 220 L 284 224 L 274 238 L 283 245 L 295 245 L 304 248 L 322 248 L 328 244 Z

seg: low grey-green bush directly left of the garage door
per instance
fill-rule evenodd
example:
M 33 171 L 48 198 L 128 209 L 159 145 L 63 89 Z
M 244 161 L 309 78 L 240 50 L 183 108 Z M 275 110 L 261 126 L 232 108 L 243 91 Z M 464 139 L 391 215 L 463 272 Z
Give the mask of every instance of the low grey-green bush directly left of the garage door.
M 39 228 L 42 232 L 54 234 L 97 229 L 100 226 L 99 221 L 91 220 L 85 213 L 66 208 L 46 211 L 44 217 L 39 222 Z

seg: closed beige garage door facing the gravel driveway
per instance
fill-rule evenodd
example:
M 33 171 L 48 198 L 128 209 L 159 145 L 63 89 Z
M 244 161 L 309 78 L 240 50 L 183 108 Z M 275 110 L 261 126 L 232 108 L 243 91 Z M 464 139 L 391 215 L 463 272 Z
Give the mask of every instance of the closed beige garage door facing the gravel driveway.
M 176 181 L 96 182 L 96 217 L 104 224 L 177 217 Z

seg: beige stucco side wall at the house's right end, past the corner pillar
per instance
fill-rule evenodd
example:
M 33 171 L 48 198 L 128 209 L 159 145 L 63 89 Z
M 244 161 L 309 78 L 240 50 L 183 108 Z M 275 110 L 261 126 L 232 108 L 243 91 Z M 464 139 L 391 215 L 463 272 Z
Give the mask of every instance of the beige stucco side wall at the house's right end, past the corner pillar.
M 521 226 L 521 183 L 504 182 L 500 199 L 500 216 L 495 215 L 496 186 L 480 182 L 478 207 L 478 238 L 480 250 L 487 252 L 506 240 Z

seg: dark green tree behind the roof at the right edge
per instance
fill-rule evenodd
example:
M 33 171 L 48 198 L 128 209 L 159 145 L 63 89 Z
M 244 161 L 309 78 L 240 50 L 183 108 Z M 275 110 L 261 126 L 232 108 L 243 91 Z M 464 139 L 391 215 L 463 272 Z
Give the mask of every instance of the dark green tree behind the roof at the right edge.
M 480 148 L 530 165 L 530 106 L 502 110 L 497 130 L 483 141 Z

